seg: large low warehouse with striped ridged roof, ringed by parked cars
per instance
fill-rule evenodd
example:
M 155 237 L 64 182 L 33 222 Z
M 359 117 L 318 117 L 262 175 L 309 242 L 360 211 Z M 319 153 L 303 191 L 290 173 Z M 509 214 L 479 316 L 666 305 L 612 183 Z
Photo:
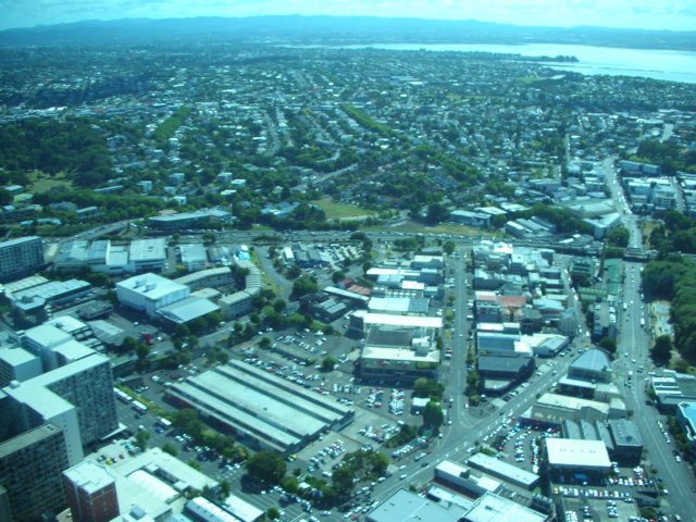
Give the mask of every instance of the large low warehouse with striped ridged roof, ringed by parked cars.
M 201 418 L 249 444 L 289 455 L 330 428 L 352 422 L 355 410 L 276 377 L 232 361 L 188 377 L 167 390 L 167 400 L 195 408 Z

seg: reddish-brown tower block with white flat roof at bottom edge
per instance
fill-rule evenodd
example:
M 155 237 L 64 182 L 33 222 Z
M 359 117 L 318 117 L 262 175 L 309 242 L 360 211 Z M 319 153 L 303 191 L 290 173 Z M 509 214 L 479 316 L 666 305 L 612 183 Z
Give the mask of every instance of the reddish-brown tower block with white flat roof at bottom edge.
M 75 522 L 109 522 L 120 514 L 116 481 L 105 467 L 86 460 L 64 471 L 63 482 Z

